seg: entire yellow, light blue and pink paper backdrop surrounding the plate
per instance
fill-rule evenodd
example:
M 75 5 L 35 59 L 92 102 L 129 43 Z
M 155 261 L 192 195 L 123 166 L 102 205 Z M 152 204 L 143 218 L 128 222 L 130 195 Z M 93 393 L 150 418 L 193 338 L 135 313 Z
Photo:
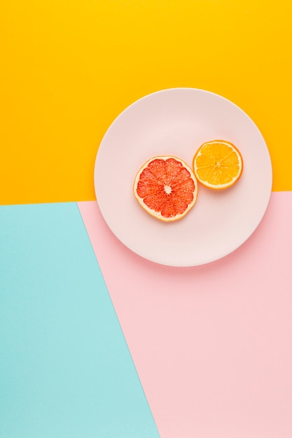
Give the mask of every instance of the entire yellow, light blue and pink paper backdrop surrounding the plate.
M 291 20 L 288 0 L 2 2 L 1 438 L 291 438 Z M 169 87 L 233 101 L 272 158 L 263 222 L 203 267 L 131 253 L 95 202 L 106 129 Z

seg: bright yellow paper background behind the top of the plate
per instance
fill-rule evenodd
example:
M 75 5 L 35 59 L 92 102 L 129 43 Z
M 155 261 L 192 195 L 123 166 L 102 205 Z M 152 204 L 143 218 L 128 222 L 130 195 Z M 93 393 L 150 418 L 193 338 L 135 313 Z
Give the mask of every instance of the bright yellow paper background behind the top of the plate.
M 292 190 L 292 2 L 13 0 L 0 7 L 0 204 L 95 199 L 102 136 L 169 87 L 223 95 Z

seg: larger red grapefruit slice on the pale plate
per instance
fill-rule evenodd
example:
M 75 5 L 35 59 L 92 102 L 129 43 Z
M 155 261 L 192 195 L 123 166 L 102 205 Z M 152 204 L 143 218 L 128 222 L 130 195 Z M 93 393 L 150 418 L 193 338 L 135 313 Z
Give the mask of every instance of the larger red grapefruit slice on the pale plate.
M 169 222 L 186 216 L 197 200 L 192 169 L 179 158 L 153 157 L 138 171 L 134 195 L 152 216 Z

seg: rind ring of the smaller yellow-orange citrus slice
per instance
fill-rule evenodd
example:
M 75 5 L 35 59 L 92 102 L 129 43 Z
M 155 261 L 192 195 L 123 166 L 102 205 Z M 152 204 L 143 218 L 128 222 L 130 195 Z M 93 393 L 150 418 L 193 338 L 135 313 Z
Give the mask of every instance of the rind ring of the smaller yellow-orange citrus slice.
M 229 148 L 231 148 L 232 152 L 235 152 L 235 154 L 237 155 L 237 160 L 238 160 L 238 172 L 236 174 L 236 176 L 234 176 L 233 178 L 230 179 L 230 181 L 228 181 L 228 183 L 225 184 L 211 184 L 208 181 L 202 179 L 202 177 L 200 176 L 200 169 L 198 169 L 197 167 L 197 158 L 200 157 L 200 155 L 202 155 L 202 150 L 205 146 L 209 146 L 211 144 L 218 144 L 221 143 L 225 146 L 229 146 Z M 232 187 L 232 185 L 235 185 L 235 183 L 239 180 L 239 178 L 242 176 L 242 171 L 244 168 L 244 164 L 243 164 L 243 160 L 242 160 L 242 155 L 239 152 L 239 150 L 237 149 L 237 147 L 231 143 L 230 141 L 225 141 L 225 140 L 212 140 L 212 141 L 206 141 L 205 143 L 203 143 L 200 148 L 197 150 L 197 152 L 195 153 L 195 156 L 193 157 L 193 172 L 195 174 L 195 178 L 197 178 L 197 181 L 199 183 L 201 183 L 202 185 L 204 185 L 204 187 L 213 189 L 213 190 L 223 190 L 225 188 L 230 188 Z

